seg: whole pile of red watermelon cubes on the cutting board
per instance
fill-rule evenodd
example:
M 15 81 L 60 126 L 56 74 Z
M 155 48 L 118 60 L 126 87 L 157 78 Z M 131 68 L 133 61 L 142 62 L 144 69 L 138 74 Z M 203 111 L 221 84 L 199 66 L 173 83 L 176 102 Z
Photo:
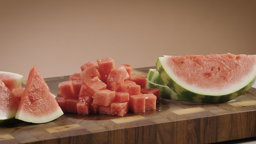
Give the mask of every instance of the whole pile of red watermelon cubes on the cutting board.
M 59 83 L 56 101 L 64 113 L 125 115 L 156 109 L 159 90 L 146 88 L 145 76 L 133 75 L 132 65 L 115 67 L 112 58 L 82 65 Z

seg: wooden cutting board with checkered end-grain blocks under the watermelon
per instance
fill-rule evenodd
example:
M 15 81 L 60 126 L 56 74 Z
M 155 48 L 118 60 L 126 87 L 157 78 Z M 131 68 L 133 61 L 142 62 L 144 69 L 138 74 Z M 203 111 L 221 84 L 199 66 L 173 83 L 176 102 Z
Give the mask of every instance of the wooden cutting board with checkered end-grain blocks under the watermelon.
M 134 69 L 147 76 L 149 68 Z M 69 76 L 45 79 L 51 92 Z M 203 104 L 161 99 L 157 110 L 110 115 L 64 114 L 45 124 L 16 120 L 0 127 L 0 144 L 18 143 L 215 143 L 256 136 L 256 89 L 229 103 Z

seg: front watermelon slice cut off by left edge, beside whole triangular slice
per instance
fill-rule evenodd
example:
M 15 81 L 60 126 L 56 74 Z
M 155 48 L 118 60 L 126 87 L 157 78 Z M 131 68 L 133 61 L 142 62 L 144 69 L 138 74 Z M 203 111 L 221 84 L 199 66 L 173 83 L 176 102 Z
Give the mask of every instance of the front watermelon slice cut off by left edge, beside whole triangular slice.
M 0 80 L 0 125 L 15 117 L 19 100 L 11 95 L 11 91 Z

